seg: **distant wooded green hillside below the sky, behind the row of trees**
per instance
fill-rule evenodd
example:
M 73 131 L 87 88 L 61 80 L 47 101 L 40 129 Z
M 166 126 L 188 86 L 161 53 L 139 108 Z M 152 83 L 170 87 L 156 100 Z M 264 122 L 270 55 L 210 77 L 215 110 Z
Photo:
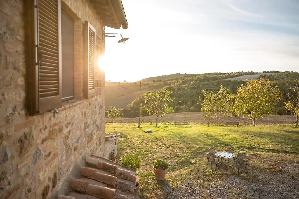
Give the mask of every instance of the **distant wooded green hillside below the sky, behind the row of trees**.
M 279 114 L 286 114 L 285 107 L 283 107 L 286 93 L 288 92 L 288 88 L 292 85 L 299 85 L 298 72 L 214 72 L 190 75 L 188 77 L 168 78 L 154 83 L 153 85 L 164 86 L 172 91 L 171 97 L 175 98 L 175 101 L 170 105 L 174 107 L 175 110 L 181 105 L 181 108 L 187 111 L 199 111 L 202 107 L 202 90 L 216 91 L 223 85 L 227 87 L 231 93 L 236 93 L 238 87 L 246 84 L 246 79 L 253 80 L 259 79 L 260 77 L 267 78 L 273 81 L 274 85 L 283 88 L 280 90 L 283 93 L 283 100 L 277 104 L 277 108 L 279 109 Z

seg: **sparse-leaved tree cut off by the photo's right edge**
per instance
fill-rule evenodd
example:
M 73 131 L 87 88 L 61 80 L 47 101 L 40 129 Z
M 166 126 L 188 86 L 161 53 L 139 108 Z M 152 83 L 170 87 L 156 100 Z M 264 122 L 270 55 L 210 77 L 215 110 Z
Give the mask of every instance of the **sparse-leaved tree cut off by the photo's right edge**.
M 299 87 L 297 85 L 290 88 L 291 93 L 287 95 L 287 100 L 285 101 L 285 107 L 287 110 L 291 111 L 296 117 L 296 125 L 298 126 L 299 117 Z

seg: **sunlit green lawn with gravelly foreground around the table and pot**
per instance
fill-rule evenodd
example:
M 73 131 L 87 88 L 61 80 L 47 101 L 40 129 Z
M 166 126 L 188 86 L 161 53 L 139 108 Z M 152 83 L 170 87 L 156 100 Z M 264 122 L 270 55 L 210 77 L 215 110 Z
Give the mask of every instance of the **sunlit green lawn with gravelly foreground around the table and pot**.
M 153 133 L 146 133 L 152 129 Z M 299 188 L 299 128 L 294 125 L 225 127 L 171 123 L 116 123 L 118 155 L 138 153 L 142 165 L 140 198 L 296 198 Z M 106 124 L 106 133 L 115 132 Z M 206 169 L 210 147 L 244 152 L 248 177 L 237 172 L 228 177 Z M 151 162 L 170 163 L 164 181 L 156 181 Z M 229 191 L 225 191 L 229 190 Z

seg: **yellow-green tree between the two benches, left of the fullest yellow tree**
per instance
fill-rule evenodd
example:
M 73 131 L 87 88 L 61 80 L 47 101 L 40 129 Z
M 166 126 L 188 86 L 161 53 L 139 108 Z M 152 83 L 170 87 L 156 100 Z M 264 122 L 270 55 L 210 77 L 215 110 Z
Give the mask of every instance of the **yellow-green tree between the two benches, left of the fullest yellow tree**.
M 218 117 L 218 114 L 226 113 L 228 111 L 228 96 L 230 94 L 226 87 L 221 85 L 219 91 L 202 90 L 204 100 L 202 101 L 202 112 L 205 115 L 202 117 L 204 120 L 208 119 L 208 127 L 210 127 L 210 120 Z M 199 99 L 200 100 L 200 99 Z

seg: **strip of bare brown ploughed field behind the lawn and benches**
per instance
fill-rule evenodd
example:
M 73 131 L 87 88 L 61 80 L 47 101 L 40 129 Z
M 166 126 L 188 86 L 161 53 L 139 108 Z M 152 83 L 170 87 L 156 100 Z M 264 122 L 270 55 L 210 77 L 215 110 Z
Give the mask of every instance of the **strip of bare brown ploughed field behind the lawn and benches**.
M 173 113 L 173 114 L 166 114 L 163 117 L 158 118 L 158 122 L 191 122 L 191 123 L 208 123 L 202 119 L 204 115 L 203 112 L 184 112 L 184 113 Z M 112 123 L 113 120 L 110 118 L 105 118 L 106 122 Z M 260 121 L 257 121 L 257 124 L 295 124 L 296 118 L 293 115 L 265 115 Z M 147 122 L 155 122 L 156 117 L 145 116 L 140 118 L 140 122 L 147 123 Z M 225 117 L 225 118 L 218 118 L 215 121 L 211 121 L 211 124 L 220 124 L 229 121 L 239 121 L 242 125 L 252 124 L 253 122 L 247 118 L 242 118 L 241 116 L 237 118 L 233 117 Z M 115 122 L 117 123 L 138 123 L 138 118 L 120 118 L 117 119 Z

